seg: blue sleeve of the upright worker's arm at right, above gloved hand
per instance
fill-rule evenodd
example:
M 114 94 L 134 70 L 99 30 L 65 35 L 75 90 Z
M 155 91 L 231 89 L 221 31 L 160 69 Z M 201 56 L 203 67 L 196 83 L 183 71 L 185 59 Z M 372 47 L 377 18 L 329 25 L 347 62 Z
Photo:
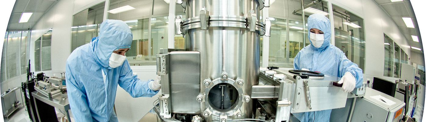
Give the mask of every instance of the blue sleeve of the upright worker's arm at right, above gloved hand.
M 338 77 L 342 77 L 346 72 L 350 72 L 354 78 L 356 78 L 356 88 L 361 87 L 363 82 L 362 69 L 360 69 L 357 64 L 348 60 L 348 58 L 345 56 L 345 53 L 341 50 L 339 50 L 338 54 Z

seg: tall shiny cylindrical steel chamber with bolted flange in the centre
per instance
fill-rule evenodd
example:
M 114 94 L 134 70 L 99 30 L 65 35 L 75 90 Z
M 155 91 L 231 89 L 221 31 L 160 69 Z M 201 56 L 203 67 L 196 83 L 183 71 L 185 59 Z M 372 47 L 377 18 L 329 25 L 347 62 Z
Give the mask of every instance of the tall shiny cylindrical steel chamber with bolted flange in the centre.
M 187 15 L 181 23 L 186 50 L 200 52 L 200 96 L 205 99 L 200 113 L 205 121 L 253 118 L 256 108 L 250 96 L 259 78 L 263 1 L 184 0 L 182 6 Z M 235 90 L 231 107 L 213 107 L 208 96 L 218 86 Z

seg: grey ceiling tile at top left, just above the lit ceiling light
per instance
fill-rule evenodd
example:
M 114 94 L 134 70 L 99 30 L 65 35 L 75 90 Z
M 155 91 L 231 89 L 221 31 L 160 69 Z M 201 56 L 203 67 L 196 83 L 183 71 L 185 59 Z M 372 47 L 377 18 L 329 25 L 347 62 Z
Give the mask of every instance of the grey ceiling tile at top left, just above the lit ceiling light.
M 46 12 L 56 1 L 30 0 L 24 12 Z M 31 6 L 30 6 L 31 5 Z

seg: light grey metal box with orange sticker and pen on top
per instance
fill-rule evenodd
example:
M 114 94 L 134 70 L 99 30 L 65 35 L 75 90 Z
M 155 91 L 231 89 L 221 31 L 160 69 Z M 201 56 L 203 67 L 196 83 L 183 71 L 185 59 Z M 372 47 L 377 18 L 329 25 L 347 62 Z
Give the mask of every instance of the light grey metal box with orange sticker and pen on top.
M 385 101 L 395 102 L 393 105 L 387 105 L 383 101 L 374 99 L 371 96 L 382 96 Z M 363 98 L 357 98 L 351 122 L 399 122 L 404 113 L 405 103 L 385 93 L 366 87 L 366 95 Z

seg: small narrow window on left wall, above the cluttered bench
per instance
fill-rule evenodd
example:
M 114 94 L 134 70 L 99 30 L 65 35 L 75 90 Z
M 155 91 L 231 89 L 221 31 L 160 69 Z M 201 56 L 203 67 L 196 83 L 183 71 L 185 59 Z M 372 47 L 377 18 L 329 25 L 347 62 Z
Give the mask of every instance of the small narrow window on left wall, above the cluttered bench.
M 50 45 L 52 41 L 52 29 L 49 29 L 35 41 L 35 71 L 52 70 Z

